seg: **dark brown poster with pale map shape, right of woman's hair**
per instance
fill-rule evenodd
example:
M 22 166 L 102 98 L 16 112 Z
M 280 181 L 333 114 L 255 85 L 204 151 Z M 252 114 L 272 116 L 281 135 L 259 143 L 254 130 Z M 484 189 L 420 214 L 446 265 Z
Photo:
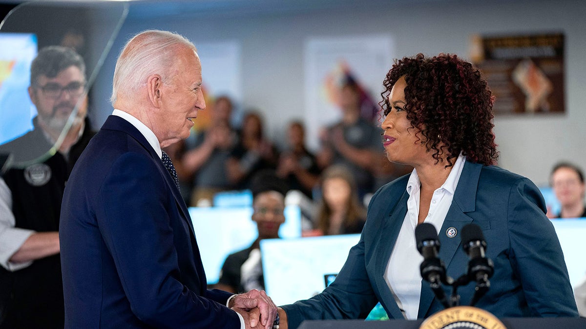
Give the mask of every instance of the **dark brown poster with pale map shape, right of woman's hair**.
M 495 95 L 496 115 L 565 111 L 562 33 L 475 35 L 470 49 Z

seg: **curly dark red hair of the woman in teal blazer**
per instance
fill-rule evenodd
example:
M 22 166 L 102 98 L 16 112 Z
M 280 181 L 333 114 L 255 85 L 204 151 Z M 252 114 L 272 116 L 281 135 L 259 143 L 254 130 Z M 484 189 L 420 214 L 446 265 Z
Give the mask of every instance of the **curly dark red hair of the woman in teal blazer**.
M 471 162 L 496 163 L 494 97 L 477 68 L 444 53 L 396 60 L 383 81 L 380 104 L 385 111 L 393 85 L 403 76 L 407 119 L 420 130 L 418 137 L 434 151 L 435 160 L 440 162 L 445 156 L 447 166 L 452 166 L 462 152 Z

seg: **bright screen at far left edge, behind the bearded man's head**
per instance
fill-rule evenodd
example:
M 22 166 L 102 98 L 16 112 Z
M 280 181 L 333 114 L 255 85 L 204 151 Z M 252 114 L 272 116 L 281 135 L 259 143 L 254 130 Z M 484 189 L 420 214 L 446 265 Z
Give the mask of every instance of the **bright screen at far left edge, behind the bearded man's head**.
M 36 109 L 28 87 L 36 54 L 36 35 L 0 32 L 0 144 L 33 128 Z

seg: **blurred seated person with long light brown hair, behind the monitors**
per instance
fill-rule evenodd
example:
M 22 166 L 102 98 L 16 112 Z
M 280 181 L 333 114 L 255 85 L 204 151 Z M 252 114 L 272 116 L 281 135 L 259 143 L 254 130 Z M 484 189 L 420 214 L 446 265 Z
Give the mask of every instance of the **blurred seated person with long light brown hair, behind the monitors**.
M 358 199 L 354 177 L 345 166 L 323 171 L 321 194 L 315 224 L 323 235 L 362 232 L 366 209 Z

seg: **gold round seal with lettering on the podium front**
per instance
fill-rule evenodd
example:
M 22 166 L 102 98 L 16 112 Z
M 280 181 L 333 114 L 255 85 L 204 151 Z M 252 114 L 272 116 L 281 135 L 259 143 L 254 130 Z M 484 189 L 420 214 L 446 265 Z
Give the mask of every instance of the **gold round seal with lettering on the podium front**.
M 472 306 L 450 307 L 428 317 L 420 329 L 506 329 L 492 313 Z

